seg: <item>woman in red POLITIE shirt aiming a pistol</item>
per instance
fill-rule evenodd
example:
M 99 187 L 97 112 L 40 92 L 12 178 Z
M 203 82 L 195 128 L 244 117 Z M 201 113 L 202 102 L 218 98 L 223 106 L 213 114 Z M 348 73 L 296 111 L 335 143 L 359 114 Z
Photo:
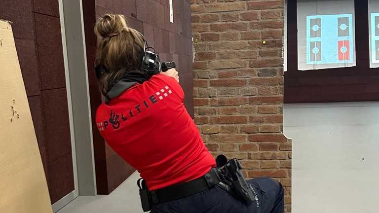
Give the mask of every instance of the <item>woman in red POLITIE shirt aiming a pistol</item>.
M 248 181 L 256 198 L 251 204 L 209 181 L 216 162 L 184 106 L 178 72 L 159 72 L 157 56 L 124 16 L 105 15 L 95 33 L 96 74 L 107 98 L 97 110 L 97 127 L 146 180 L 153 213 L 283 213 L 283 189 L 272 179 Z

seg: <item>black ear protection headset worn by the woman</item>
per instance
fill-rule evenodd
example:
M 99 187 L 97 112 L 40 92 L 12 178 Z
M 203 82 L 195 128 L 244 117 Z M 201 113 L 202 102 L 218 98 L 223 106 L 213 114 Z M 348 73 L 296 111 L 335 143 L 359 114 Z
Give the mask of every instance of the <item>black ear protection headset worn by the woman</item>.
M 138 31 L 137 31 L 138 32 Z M 151 75 L 157 74 L 160 71 L 160 61 L 159 56 L 155 53 L 155 49 L 151 46 L 149 46 L 148 42 L 145 40 L 145 37 L 138 32 L 142 39 L 144 40 L 144 54 L 142 57 L 142 70 L 146 70 Z M 107 73 L 108 70 L 105 67 L 103 63 L 99 63 L 97 66 L 95 66 L 95 75 L 97 79 L 100 79 L 103 74 Z

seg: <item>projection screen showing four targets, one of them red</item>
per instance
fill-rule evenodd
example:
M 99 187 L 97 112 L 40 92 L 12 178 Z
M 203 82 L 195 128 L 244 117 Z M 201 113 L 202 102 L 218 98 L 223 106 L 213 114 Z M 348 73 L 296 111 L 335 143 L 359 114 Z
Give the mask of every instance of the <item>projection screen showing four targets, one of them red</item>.
M 354 0 L 298 0 L 298 68 L 353 67 Z

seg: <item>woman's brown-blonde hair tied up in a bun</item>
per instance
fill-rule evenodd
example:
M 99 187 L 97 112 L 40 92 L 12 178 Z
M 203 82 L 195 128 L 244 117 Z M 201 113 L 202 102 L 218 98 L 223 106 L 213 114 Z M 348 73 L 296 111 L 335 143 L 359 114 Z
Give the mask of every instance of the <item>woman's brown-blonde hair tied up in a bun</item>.
M 98 83 L 106 93 L 110 84 L 128 71 L 141 70 L 145 40 L 127 26 L 123 15 L 104 15 L 96 22 L 94 31 L 99 40 L 97 59 L 107 69 Z

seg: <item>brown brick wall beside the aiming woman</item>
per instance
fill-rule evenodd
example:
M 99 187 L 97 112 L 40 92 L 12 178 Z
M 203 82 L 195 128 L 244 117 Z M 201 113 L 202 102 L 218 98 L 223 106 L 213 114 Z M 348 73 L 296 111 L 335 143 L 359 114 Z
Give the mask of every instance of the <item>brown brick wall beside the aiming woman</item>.
M 284 0 L 191 0 L 191 11 L 201 136 L 214 156 L 240 159 L 247 178 L 281 181 L 291 212 L 292 142 L 283 135 Z

